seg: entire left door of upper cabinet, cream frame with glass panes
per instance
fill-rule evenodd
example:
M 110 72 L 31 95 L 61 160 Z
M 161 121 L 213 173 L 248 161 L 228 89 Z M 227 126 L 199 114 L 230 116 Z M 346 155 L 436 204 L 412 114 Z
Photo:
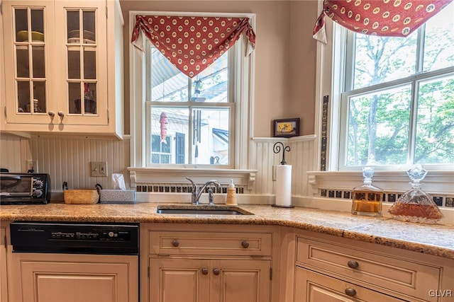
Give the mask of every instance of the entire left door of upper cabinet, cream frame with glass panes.
M 55 48 L 53 2 L 3 0 L 2 4 L 6 122 L 52 123 L 48 113 L 53 78 L 49 53 Z

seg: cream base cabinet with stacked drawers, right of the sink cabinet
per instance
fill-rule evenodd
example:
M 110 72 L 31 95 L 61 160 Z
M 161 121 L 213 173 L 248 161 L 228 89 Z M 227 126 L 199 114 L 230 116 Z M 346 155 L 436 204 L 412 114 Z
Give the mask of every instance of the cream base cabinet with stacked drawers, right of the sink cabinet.
M 454 301 L 454 260 L 307 231 L 291 242 L 293 301 Z

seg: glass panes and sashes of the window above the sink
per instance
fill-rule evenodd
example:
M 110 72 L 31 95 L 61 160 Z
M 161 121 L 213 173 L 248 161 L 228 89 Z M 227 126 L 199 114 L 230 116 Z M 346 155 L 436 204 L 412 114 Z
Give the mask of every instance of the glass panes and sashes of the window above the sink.
M 235 125 L 231 81 L 235 47 L 191 79 L 149 40 L 145 43 L 147 166 L 230 165 L 234 141 L 229 134 Z

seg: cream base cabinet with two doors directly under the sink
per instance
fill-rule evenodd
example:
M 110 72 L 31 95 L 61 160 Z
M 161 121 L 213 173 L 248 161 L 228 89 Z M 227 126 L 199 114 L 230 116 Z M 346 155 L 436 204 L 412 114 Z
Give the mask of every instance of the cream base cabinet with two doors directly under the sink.
M 272 301 L 273 228 L 141 227 L 141 301 Z

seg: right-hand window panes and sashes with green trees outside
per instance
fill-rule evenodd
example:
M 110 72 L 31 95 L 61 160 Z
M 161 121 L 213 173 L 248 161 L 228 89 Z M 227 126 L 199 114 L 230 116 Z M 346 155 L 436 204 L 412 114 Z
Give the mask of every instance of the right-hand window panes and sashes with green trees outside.
M 453 14 L 450 4 L 406 38 L 336 25 L 343 35 L 334 43 L 344 46 L 335 49 L 345 58 L 338 75 L 339 170 L 454 163 Z

